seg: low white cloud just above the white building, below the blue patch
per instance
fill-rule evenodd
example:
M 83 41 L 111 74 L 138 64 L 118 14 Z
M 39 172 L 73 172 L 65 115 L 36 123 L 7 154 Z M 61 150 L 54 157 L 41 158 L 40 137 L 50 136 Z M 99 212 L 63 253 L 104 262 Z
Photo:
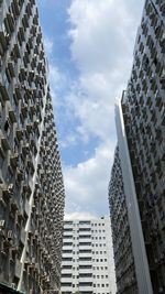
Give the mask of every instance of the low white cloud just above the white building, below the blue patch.
M 77 166 L 64 168 L 66 214 L 86 211 L 91 215 L 108 213 L 108 182 L 114 142 L 96 149 L 94 157 Z M 76 205 L 75 205 L 76 204 Z

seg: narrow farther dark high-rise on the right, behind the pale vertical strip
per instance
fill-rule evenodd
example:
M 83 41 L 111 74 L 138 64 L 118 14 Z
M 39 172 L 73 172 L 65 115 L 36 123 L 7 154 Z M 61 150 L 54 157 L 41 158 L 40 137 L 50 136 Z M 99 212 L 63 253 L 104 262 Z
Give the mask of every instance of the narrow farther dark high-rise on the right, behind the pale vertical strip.
M 136 294 L 139 291 L 119 148 L 116 149 L 114 162 L 111 171 L 109 204 L 118 293 Z

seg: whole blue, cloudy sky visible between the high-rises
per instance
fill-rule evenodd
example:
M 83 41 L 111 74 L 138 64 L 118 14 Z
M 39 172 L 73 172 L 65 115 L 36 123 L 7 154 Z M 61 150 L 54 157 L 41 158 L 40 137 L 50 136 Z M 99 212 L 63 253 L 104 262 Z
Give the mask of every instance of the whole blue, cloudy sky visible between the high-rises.
M 131 74 L 143 0 L 37 0 L 66 218 L 109 215 L 114 104 Z

